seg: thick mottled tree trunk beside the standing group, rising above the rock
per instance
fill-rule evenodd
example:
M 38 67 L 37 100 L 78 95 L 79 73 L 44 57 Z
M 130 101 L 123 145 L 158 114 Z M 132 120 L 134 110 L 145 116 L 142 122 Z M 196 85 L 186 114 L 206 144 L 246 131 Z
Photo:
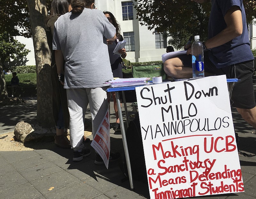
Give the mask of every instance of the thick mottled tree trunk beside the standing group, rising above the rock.
M 52 116 L 51 56 L 45 33 L 45 0 L 27 0 L 36 59 L 37 121 L 54 126 Z

